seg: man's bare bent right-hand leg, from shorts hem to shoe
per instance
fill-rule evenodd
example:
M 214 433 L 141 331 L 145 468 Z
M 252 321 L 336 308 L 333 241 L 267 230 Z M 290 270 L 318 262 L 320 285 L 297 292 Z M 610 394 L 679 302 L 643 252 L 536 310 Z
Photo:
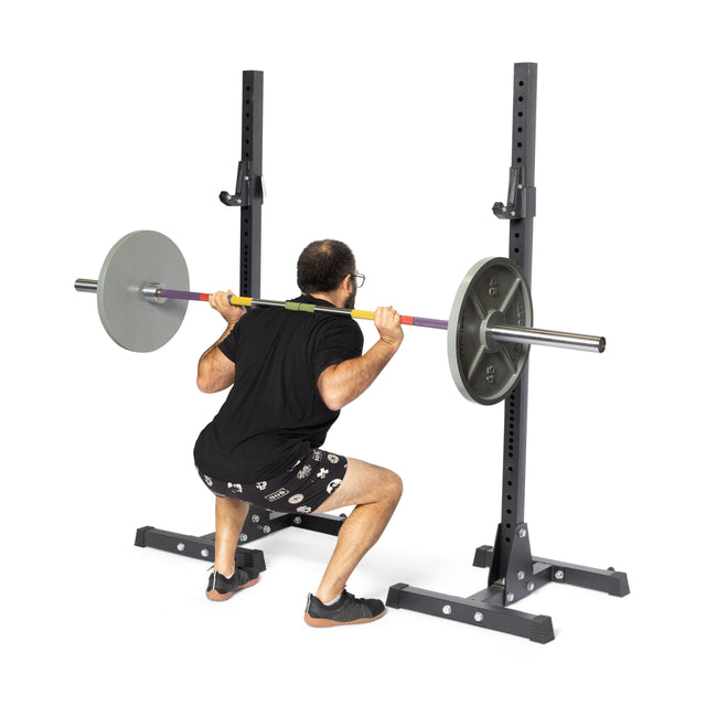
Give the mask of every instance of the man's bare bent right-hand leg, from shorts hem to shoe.
M 355 505 L 339 532 L 333 555 L 317 598 L 327 603 L 339 596 L 359 561 L 377 542 L 402 496 L 402 479 L 393 471 L 349 459 L 343 482 L 314 512 Z

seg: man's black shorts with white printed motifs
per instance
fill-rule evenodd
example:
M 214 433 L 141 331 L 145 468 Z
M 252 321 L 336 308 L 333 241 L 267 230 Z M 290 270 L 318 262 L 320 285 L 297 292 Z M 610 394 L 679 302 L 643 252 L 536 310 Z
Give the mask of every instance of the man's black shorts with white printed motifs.
M 218 498 L 237 498 L 274 512 L 310 513 L 341 485 L 347 467 L 345 457 L 312 449 L 289 470 L 257 483 L 220 481 L 201 469 L 199 475 Z

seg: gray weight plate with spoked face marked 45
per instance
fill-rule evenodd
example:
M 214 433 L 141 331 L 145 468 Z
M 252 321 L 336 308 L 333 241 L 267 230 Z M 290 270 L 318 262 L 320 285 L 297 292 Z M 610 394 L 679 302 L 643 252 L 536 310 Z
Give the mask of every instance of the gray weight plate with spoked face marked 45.
M 486 329 L 532 327 L 530 287 L 504 257 L 477 263 L 461 282 L 449 317 L 448 352 L 459 392 L 481 405 L 503 400 L 517 384 L 530 345 L 494 341 Z

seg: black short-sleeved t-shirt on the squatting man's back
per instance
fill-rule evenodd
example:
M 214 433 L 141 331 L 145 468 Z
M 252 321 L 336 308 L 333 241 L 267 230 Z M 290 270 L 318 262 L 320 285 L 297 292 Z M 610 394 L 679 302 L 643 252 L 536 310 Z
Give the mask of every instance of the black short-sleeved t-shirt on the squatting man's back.
M 302 296 L 293 301 L 331 307 Z M 363 332 L 346 315 L 254 308 L 218 346 L 235 363 L 223 407 L 196 440 L 201 471 L 253 483 L 280 473 L 320 447 L 339 413 L 319 395 L 319 375 L 363 352 Z

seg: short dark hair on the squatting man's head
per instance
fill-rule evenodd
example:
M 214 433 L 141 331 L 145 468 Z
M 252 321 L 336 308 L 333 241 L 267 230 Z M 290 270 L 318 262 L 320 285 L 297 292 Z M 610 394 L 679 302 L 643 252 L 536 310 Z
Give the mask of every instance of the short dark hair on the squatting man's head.
M 314 240 L 297 261 L 297 285 L 304 295 L 333 291 L 346 275 L 355 275 L 355 257 L 340 240 Z

